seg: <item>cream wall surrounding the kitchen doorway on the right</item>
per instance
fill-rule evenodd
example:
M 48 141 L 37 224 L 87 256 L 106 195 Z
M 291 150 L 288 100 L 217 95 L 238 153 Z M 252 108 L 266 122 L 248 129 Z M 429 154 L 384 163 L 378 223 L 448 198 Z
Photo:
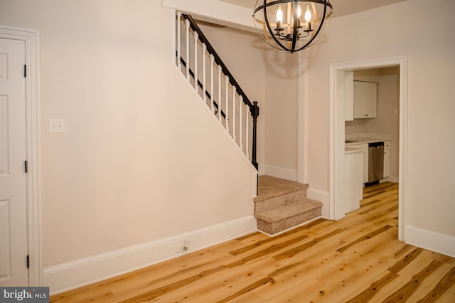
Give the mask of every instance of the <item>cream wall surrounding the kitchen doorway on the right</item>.
M 306 167 L 311 187 L 328 191 L 329 66 L 335 63 L 407 55 L 406 228 L 455 243 L 453 172 L 455 69 L 452 0 L 408 0 L 400 4 L 334 18 L 326 35 L 302 54 L 306 70 L 309 119 Z M 430 26 L 422 26 L 428 14 Z M 410 234 L 410 233 L 408 233 Z M 425 246 L 424 241 L 415 241 Z M 455 248 L 449 247 L 455 254 Z

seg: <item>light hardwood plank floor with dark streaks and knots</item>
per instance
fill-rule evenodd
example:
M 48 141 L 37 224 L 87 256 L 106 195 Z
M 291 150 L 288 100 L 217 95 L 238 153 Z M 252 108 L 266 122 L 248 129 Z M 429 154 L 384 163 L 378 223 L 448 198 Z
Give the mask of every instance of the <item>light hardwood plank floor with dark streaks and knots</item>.
M 271 238 L 252 233 L 50 302 L 455 302 L 455 259 L 397 240 L 398 185 Z

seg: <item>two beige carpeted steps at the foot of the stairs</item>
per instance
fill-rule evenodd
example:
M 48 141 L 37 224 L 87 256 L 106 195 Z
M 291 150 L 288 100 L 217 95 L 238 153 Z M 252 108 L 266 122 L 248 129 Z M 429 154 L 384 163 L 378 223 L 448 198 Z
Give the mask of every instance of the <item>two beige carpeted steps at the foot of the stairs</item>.
M 257 228 L 271 235 L 321 216 L 322 203 L 306 198 L 308 184 L 259 176 L 255 202 Z

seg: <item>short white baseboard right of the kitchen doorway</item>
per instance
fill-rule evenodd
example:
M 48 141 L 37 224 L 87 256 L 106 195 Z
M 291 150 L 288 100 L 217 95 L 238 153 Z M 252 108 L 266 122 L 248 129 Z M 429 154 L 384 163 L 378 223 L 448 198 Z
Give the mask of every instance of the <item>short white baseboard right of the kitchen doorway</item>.
M 455 237 L 427 229 L 406 226 L 405 242 L 455 258 Z

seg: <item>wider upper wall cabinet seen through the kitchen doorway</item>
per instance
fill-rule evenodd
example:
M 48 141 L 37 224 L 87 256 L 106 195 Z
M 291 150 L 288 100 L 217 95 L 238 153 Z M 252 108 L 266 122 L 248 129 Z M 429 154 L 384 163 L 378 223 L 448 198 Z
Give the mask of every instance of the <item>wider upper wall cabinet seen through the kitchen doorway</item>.
M 354 119 L 376 118 L 378 83 L 354 81 Z

